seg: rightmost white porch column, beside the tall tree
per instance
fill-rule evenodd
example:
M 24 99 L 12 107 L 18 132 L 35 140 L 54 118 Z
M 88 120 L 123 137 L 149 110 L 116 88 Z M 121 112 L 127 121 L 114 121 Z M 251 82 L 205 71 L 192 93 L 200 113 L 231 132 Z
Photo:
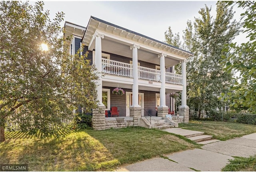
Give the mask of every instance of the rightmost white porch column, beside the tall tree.
M 181 74 L 182 74 L 183 89 L 181 92 L 181 106 L 180 107 L 188 108 L 188 106 L 187 106 L 187 84 L 186 84 L 186 60 L 182 60 Z

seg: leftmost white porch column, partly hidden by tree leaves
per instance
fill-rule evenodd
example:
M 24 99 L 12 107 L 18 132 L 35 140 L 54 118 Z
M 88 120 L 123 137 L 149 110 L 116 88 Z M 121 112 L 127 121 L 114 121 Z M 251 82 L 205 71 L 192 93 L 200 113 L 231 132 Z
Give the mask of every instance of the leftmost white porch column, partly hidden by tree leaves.
M 102 103 L 102 51 L 101 51 L 101 39 L 104 38 L 104 35 L 95 32 L 95 34 L 92 36 L 93 39 L 95 39 L 95 66 L 98 69 L 98 76 L 99 79 L 97 80 L 97 91 L 98 91 L 98 100 L 99 100 L 99 106 L 104 106 Z

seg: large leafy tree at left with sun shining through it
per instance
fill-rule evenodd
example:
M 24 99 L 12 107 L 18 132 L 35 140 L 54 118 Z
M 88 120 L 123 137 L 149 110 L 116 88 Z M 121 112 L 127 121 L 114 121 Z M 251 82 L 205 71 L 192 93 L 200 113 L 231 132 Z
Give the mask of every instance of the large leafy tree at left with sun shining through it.
M 96 69 L 87 54 L 68 54 L 64 13 L 51 21 L 43 2 L 0 1 L 0 140 L 8 120 L 25 131 L 49 134 L 74 117 L 73 109 L 96 107 Z M 48 50 L 41 45 L 48 46 Z

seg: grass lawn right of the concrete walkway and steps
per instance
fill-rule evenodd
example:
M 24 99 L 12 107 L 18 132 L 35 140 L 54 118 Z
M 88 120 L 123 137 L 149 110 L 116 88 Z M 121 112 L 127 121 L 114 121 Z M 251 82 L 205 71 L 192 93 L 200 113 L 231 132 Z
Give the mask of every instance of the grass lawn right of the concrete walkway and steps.
M 233 122 L 190 121 L 188 124 L 180 123 L 179 127 L 202 131 L 218 140 L 228 140 L 256 132 L 255 125 Z

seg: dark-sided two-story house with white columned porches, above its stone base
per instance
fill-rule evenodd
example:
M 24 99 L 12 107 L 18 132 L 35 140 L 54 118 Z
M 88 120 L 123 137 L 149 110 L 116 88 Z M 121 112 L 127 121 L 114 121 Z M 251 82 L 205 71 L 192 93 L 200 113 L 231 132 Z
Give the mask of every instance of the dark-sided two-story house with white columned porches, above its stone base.
M 104 76 L 98 80 L 98 100 L 105 110 L 118 107 L 120 117 L 134 116 L 131 109 L 145 109 L 152 116 L 156 107 L 174 110 L 169 94 L 182 91 L 182 107 L 186 106 L 186 59 L 191 52 L 160 42 L 148 36 L 90 17 L 87 27 L 65 22 L 66 36 L 73 35 L 70 53 L 82 44 L 88 59 Z M 182 62 L 182 74 L 174 66 Z M 125 95 L 112 94 L 122 88 Z M 162 111 L 161 111 L 162 112 Z M 158 111 L 159 114 L 159 111 Z M 143 115 L 143 114 L 142 114 Z

